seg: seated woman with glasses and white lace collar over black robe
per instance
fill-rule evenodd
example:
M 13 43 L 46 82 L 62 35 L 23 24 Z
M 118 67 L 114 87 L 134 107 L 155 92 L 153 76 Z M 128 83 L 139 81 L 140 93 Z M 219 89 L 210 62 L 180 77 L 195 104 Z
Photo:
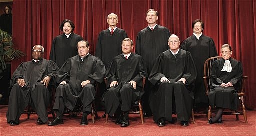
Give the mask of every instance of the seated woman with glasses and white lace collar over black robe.
M 218 110 L 216 116 L 208 120 L 209 124 L 222 123 L 224 108 L 237 110 L 238 107 L 242 64 L 231 58 L 232 48 L 228 44 L 222 45 L 221 54 L 222 59 L 214 61 L 210 72 L 209 103 Z

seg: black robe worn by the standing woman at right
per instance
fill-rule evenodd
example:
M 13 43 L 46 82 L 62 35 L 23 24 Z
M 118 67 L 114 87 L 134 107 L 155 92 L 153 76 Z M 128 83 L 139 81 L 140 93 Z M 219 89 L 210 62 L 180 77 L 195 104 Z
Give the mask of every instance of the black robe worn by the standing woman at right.
M 197 77 L 195 80 L 195 103 L 208 103 L 208 97 L 203 82 L 203 65 L 204 62 L 213 56 L 218 56 L 215 43 L 212 38 L 201 35 L 199 40 L 194 36 L 190 36 L 185 39 L 181 46 L 181 49 L 187 50 L 192 54 L 196 70 Z

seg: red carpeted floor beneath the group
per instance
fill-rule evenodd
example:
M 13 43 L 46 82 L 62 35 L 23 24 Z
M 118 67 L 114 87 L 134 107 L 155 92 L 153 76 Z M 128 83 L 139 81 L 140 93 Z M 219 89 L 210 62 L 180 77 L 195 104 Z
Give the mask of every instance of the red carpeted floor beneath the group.
M 235 115 L 223 116 L 223 124 L 207 124 L 205 114 L 195 114 L 195 124 L 182 127 L 178 122 L 167 124 L 165 127 L 158 127 L 152 117 L 145 118 L 141 124 L 139 115 L 130 115 L 130 126 L 120 127 L 115 125 L 109 118 L 96 119 L 92 123 L 91 116 L 88 116 L 89 125 L 79 125 L 81 117 L 70 119 L 64 116 L 64 124 L 57 126 L 37 125 L 37 115 L 20 117 L 20 124 L 10 126 L 6 122 L 7 105 L 0 105 L 0 136 L 256 136 L 256 111 L 247 111 L 248 124 L 244 123 L 243 116 L 235 120 Z M 101 117 L 103 112 L 98 112 Z M 174 117 L 175 115 L 173 115 Z M 52 120 L 52 115 L 49 115 Z

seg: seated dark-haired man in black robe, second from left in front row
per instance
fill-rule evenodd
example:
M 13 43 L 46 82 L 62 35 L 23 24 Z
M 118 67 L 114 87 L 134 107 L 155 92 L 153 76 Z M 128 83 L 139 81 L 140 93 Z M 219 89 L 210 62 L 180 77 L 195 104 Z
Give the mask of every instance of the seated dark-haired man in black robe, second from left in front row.
M 48 125 L 62 124 L 64 107 L 73 110 L 78 98 L 83 104 L 80 125 L 88 124 L 87 115 L 91 112 L 90 104 L 96 94 L 95 84 L 103 81 L 105 66 L 98 57 L 89 54 L 87 41 L 79 41 L 77 49 L 78 55 L 69 58 L 59 70 L 59 86 L 56 89 L 53 106 L 57 116 Z

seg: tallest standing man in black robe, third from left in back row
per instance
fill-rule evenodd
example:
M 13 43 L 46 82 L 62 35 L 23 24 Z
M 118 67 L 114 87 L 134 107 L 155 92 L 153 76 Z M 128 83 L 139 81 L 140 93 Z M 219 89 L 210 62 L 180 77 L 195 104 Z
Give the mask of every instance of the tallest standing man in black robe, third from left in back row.
M 143 57 L 147 66 L 147 72 L 150 73 L 155 64 L 156 57 L 169 48 L 167 42 L 170 37 L 170 31 L 168 28 L 156 23 L 158 12 L 154 9 L 149 9 L 146 12 L 146 20 L 148 26 L 142 29 L 137 35 L 135 53 Z M 142 97 L 145 117 L 152 115 L 149 107 L 149 96 L 152 87 L 152 84 L 146 79 L 145 94 Z

